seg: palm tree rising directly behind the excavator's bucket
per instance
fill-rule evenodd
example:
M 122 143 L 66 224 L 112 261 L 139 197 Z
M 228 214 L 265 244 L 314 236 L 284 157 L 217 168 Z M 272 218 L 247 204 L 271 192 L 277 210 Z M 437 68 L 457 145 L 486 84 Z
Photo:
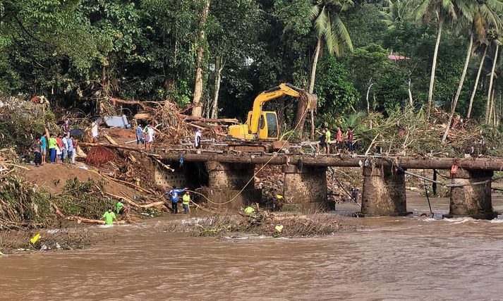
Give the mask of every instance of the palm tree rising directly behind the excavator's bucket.
M 322 42 L 325 41 L 330 55 L 341 56 L 345 50 L 353 51 L 353 42 L 349 37 L 346 25 L 341 20 L 340 13 L 353 6 L 352 0 L 316 0 L 311 8 L 310 18 L 313 20 L 317 36 L 315 56 L 309 81 L 309 92 L 315 89 L 316 66 Z M 311 110 L 311 123 L 313 123 L 313 111 Z M 303 121 L 300 121 L 303 124 Z M 311 136 L 314 136 L 314 126 L 311 126 Z

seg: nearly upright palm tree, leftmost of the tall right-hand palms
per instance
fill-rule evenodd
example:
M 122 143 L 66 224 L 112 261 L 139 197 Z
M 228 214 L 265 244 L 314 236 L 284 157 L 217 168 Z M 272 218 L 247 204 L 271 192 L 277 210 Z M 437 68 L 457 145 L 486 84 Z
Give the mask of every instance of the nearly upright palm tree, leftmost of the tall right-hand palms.
M 435 42 L 435 51 L 433 51 L 433 62 L 430 75 L 430 89 L 428 90 L 428 108 L 426 111 L 426 119 L 430 118 L 430 111 L 433 99 L 433 85 L 435 83 L 435 69 L 437 68 L 438 47 L 440 45 L 440 37 L 442 29 L 446 23 L 451 23 L 452 20 L 458 18 L 458 10 L 456 0 L 412 0 L 416 8 L 413 11 L 413 16 L 416 19 L 433 19 L 437 21 L 437 41 Z

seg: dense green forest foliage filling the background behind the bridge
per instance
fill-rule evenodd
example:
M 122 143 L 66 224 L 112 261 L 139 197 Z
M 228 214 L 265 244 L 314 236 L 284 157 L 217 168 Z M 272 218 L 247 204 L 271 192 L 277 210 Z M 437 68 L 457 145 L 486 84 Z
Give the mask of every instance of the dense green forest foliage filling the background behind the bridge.
M 255 95 L 279 82 L 308 88 L 317 40 L 323 37 L 315 81 L 321 116 L 317 122 L 332 123 L 351 106 L 387 116 L 411 103 L 409 88 L 417 109 L 428 100 L 440 20 L 431 12 L 441 8 L 423 9 L 420 5 L 426 2 L 213 0 L 200 40 L 202 0 L 4 0 L 0 91 L 26 97 L 44 94 L 53 104 L 86 113 L 96 113 L 97 103 L 109 97 L 190 104 L 196 52 L 203 43 L 204 110 L 210 110 L 215 98 L 216 66 L 221 66 L 219 115 L 243 118 Z M 433 94 L 434 104 L 445 110 L 456 94 L 471 28 L 468 21 L 475 16 L 463 9 L 475 10 L 477 5 L 452 3 L 454 11 L 438 15 L 446 24 L 450 18 L 440 39 Z M 475 39 L 456 106 L 463 116 L 488 45 L 472 117 L 485 113 L 486 75 L 495 56 L 492 38 Z M 499 63 L 495 69 L 499 74 Z M 503 107 L 500 78 L 494 83 L 498 123 Z M 279 99 L 268 106 L 279 111 L 281 121 L 291 122 L 295 109 L 289 102 Z

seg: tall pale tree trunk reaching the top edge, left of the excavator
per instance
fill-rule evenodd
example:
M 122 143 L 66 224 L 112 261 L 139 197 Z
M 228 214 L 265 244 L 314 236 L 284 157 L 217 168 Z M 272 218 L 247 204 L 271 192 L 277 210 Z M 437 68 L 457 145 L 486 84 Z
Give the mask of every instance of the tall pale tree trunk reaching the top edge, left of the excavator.
M 199 32 L 199 46 L 198 46 L 198 61 L 196 63 L 197 68 L 195 69 L 195 85 L 194 85 L 194 99 L 193 104 L 195 105 L 192 109 L 192 116 L 201 117 L 202 115 L 202 59 L 205 54 L 204 40 L 205 40 L 205 25 L 208 18 L 208 13 L 210 13 L 210 0 L 205 0 L 206 6 L 201 14 L 200 22 L 200 32 Z

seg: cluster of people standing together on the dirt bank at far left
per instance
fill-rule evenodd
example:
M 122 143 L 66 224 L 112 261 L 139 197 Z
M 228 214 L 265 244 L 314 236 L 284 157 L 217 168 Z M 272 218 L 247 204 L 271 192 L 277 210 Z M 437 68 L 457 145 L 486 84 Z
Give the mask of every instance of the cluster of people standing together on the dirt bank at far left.
M 75 149 L 78 141 L 70 135 L 70 125 L 65 121 L 63 133 L 58 135 L 54 133 L 42 134 L 31 145 L 30 151 L 35 156 L 35 166 L 46 164 L 47 159 L 51 164 L 70 163 L 75 164 Z

